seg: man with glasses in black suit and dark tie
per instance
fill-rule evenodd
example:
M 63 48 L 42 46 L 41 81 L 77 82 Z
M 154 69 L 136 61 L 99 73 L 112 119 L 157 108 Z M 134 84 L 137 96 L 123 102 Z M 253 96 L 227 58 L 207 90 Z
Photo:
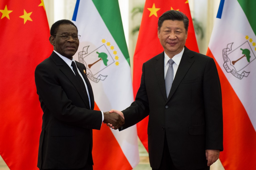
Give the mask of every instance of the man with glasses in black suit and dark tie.
M 44 112 L 39 140 L 39 169 L 93 169 L 92 129 L 102 122 L 120 127 L 114 113 L 94 111 L 86 67 L 74 61 L 79 46 L 77 27 L 69 20 L 55 22 L 50 30 L 51 56 L 35 70 L 35 82 Z

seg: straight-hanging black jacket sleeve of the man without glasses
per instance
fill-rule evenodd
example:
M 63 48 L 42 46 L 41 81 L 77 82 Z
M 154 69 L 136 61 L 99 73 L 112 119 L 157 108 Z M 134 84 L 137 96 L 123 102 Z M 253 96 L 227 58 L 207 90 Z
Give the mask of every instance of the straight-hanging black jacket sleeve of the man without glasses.
M 206 63 L 203 78 L 206 121 L 206 149 L 223 150 L 223 117 L 220 80 L 212 58 Z

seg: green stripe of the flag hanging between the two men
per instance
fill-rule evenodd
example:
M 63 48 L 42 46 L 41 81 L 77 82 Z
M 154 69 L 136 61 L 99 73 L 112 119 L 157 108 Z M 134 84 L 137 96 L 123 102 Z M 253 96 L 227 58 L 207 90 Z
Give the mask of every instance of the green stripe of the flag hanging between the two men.
M 106 24 L 106 27 L 109 29 L 109 32 L 111 33 L 116 44 L 118 44 L 125 59 L 130 65 L 130 57 L 129 57 L 129 53 L 128 53 L 128 49 L 127 49 L 127 45 L 124 37 L 124 29 L 123 29 L 118 0 L 111 0 L 111 1 L 92 0 L 92 2 L 94 3 L 101 18 Z

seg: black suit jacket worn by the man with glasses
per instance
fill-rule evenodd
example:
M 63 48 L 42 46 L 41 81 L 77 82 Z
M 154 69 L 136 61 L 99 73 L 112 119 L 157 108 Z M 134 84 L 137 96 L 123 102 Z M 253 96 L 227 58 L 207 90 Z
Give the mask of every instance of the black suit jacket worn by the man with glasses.
M 83 71 L 86 67 L 76 64 L 87 83 L 91 109 L 73 71 L 55 52 L 36 67 L 36 88 L 44 112 L 37 164 L 40 169 L 81 168 L 87 160 L 93 164 L 92 129 L 100 129 L 102 113 L 93 111 L 92 87 Z

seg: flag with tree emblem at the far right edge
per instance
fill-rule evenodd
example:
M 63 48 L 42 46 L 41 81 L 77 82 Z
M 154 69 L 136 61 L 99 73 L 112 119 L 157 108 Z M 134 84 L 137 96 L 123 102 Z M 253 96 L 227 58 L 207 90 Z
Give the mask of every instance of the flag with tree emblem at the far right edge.
M 207 55 L 217 64 L 223 101 L 225 169 L 256 169 L 256 1 L 221 0 Z

